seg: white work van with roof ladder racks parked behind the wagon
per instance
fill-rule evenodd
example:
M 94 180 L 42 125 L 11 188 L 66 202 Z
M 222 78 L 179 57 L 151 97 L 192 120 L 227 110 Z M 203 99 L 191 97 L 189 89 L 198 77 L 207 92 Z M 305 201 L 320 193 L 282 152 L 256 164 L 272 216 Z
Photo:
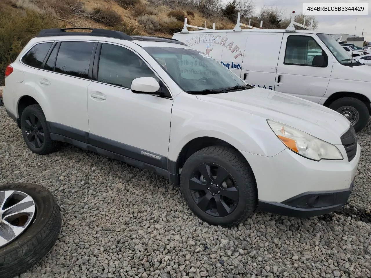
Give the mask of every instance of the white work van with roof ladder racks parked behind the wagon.
M 173 39 L 209 54 L 250 85 L 327 106 L 348 118 L 356 131 L 363 129 L 371 114 L 371 68 L 329 34 L 295 30 L 294 24 L 303 26 L 292 20 L 286 30 L 242 30 L 247 25 L 238 19 L 233 30 L 188 31 L 196 26 L 185 19 Z

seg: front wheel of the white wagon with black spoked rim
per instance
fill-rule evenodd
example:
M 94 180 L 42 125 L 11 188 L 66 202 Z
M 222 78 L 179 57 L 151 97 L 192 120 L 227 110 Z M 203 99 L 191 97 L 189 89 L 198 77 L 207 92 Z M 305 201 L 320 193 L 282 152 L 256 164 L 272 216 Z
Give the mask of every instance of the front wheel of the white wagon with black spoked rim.
M 180 186 L 191 211 L 212 225 L 237 225 L 257 206 L 253 172 L 241 153 L 229 147 L 210 146 L 191 155 Z

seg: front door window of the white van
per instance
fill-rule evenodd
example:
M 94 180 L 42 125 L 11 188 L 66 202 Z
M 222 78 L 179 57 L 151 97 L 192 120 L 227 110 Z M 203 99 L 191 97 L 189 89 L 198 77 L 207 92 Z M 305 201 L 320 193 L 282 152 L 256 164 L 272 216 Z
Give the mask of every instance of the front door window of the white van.
M 289 36 L 286 43 L 284 64 L 311 66 L 314 56 L 326 53 L 311 36 Z

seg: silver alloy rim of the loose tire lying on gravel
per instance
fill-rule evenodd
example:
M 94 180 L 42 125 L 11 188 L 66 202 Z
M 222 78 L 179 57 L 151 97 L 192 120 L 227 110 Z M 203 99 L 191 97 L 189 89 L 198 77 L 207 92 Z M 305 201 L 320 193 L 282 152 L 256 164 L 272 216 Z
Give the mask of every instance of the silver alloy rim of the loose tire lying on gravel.
M 30 195 L 15 190 L 0 191 L 0 248 L 27 229 L 35 211 Z

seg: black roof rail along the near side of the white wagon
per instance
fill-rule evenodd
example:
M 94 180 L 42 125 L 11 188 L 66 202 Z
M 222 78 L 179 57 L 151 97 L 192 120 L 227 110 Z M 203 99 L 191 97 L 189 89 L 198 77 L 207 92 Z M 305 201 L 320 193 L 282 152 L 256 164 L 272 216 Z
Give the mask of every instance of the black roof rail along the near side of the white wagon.
M 92 32 L 66 32 L 66 30 L 92 30 Z M 124 32 L 116 30 L 96 29 L 96 28 L 52 28 L 42 29 L 36 37 L 51 36 L 100 36 L 110 37 L 121 40 L 133 40 L 133 38 Z

